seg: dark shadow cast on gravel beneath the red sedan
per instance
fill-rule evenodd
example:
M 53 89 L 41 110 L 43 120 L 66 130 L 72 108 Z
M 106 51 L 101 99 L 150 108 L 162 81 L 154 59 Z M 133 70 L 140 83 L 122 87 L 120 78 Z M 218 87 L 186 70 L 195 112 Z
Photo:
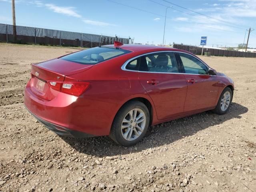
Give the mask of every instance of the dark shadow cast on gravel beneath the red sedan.
M 149 148 L 170 144 L 187 136 L 196 134 L 200 130 L 220 125 L 232 118 L 241 118 L 241 114 L 248 111 L 248 108 L 232 103 L 227 114 L 217 115 L 211 111 L 172 120 L 149 128 L 146 136 L 135 146 L 119 146 L 108 136 L 93 138 L 64 138 L 76 151 L 98 157 L 117 156 L 141 152 Z

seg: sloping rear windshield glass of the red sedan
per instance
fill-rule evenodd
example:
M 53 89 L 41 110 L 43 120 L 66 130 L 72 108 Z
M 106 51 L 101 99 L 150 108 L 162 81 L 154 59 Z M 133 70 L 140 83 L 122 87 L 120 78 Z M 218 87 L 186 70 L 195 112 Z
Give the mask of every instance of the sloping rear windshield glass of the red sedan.
M 60 59 L 93 65 L 126 53 L 130 51 L 121 48 L 95 47 L 63 56 Z

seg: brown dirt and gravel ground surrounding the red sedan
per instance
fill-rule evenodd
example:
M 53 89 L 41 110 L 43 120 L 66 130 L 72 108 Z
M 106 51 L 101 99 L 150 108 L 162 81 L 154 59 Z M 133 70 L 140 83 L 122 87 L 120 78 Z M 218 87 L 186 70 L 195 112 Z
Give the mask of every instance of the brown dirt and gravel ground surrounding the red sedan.
M 230 111 L 159 124 L 122 147 L 60 138 L 24 108 L 30 64 L 75 51 L 0 44 L 0 191 L 256 192 L 256 58 L 203 56 L 235 82 Z

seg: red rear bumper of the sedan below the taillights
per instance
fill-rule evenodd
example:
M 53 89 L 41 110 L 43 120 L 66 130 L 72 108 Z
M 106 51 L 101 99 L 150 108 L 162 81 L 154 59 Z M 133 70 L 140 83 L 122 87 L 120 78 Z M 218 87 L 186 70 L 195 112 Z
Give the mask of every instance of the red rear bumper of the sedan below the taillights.
M 60 135 L 74 137 L 106 136 L 110 132 L 116 104 L 95 100 L 94 97 L 76 97 L 59 92 L 52 100 L 36 95 L 28 82 L 24 105 L 40 122 Z

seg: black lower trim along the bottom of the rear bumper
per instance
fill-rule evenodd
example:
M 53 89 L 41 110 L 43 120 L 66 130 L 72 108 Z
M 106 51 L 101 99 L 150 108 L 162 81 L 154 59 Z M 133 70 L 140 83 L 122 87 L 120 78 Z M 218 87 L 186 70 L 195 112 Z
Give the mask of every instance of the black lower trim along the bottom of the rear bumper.
M 25 106 L 26 108 L 26 106 Z M 28 108 L 26 108 L 28 110 Z M 28 112 L 30 112 L 30 110 L 28 110 Z M 75 130 L 70 130 L 68 128 L 50 123 L 46 120 L 43 120 L 41 118 L 39 118 L 38 116 L 36 116 L 35 114 L 33 114 L 32 112 L 30 112 L 39 122 L 41 122 L 42 124 L 44 124 L 44 126 L 46 126 L 48 129 L 50 129 L 52 132 L 60 135 L 60 136 L 64 136 L 64 137 L 75 137 L 75 138 L 85 138 L 85 137 L 94 137 L 95 135 L 91 135 L 91 134 L 87 134 L 84 132 L 80 132 L 80 131 L 75 131 Z

